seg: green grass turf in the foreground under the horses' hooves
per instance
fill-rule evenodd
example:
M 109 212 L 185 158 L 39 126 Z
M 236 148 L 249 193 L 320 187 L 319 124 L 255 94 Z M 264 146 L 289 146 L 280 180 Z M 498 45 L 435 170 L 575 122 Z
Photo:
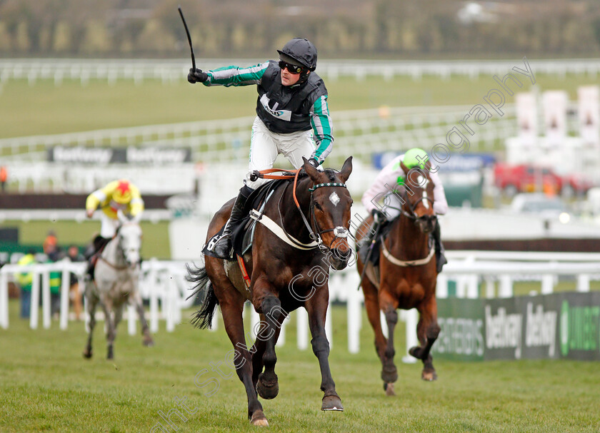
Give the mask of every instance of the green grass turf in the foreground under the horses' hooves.
M 127 335 L 126 323 L 115 343 L 116 360 L 106 361 L 102 322 L 94 332 L 95 355 L 84 360 L 86 334 L 81 323 L 61 331 L 29 330 L 11 302 L 9 330 L 0 330 L 1 432 L 149 432 L 159 411 L 186 397 L 193 415 L 172 417 L 177 432 L 255 432 L 246 421 L 246 396 L 239 380 L 219 378 L 211 397 L 201 381 L 218 377 L 231 344 L 219 330 L 194 330 L 183 323 L 164 331 L 156 346 L 142 347 Z M 189 312 L 184 314 L 189 317 Z M 185 321 L 185 319 L 184 319 Z M 574 361 L 435 362 L 439 379 L 423 382 L 421 365 L 404 365 L 404 329 L 397 332 L 399 380 L 396 397 L 385 397 L 372 331 L 364 317 L 362 350 L 346 350 L 345 310 L 334 307 L 331 371 L 345 411 L 321 412 L 322 392 L 316 357 L 295 344 L 295 318 L 278 347 L 279 396 L 264 400 L 272 432 L 598 432 L 600 376 L 597 363 Z M 229 371 L 222 367 L 224 374 Z M 169 429 L 169 431 L 175 431 Z

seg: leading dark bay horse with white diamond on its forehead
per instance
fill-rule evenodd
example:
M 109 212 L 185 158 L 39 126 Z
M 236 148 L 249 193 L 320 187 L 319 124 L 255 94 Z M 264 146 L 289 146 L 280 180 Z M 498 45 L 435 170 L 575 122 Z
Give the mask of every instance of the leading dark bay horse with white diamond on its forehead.
M 348 244 L 352 199 L 346 180 L 351 157 L 341 170 L 316 170 L 306 159 L 294 182 L 279 183 L 264 205 L 254 232 L 254 245 L 238 262 L 205 255 L 205 267 L 189 270 L 189 280 L 201 290 L 208 284 L 204 305 L 196 315 L 199 327 L 210 327 L 216 305 L 234 345 L 232 368 L 246 388 L 248 417 L 254 425 L 269 423 L 258 395 L 272 399 L 279 392 L 275 374 L 275 343 L 289 312 L 304 307 L 309 315 L 311 345 L 321 367 L 322 410 L 343 410 L 329 370 L 325 315 L 329 305 L 329 266 L 344 269 L 352 255 Z M 234 200 L 216 213 L 207 242 L 229 218 Z M 245 265 L 244 265 L 245 263 Z M 246 268 L 246 281 L 244 271 Z M 256 341 L 246 347 L 242 312 L 249 300 L 261 322 Z M 258 395 L 257 395 L 258 392 Z

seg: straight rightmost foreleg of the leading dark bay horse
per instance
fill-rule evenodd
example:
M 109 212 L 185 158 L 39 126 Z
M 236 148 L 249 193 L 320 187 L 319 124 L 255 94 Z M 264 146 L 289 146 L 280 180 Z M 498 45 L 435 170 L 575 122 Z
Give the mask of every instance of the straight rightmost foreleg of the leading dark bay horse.
M 344 410 L 329 369 L 329 341 L 325 334 L 325 316 L 328 305 L 329 287 L 327 285 L 319 287 L 319 290 L 304 303 L 304 307 L 309 313 L 311 345 L 321 368 L 321 391 L 324 392 L 321 410 Z

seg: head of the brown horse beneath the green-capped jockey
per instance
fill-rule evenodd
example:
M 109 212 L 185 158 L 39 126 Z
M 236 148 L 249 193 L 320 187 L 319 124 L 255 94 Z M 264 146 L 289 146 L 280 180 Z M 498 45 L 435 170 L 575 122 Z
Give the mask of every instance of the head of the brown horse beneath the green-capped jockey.
M 400 167 L 405 174 L 404 207 L 408 207 L 405 215 L 415 220 L 423 233 L 430 233 L 436 227 L 437 217 L 434 212 L 434 183 L 429 176 L 431 164 L 425 163 L 425 168 L 408 168 L 404 163 Z

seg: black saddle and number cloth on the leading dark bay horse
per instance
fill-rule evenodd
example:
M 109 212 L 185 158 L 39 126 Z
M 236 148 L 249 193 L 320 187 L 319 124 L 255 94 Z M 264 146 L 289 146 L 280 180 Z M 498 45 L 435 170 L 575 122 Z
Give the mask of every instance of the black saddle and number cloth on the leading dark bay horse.
M 233 244 L 235 255 L 244 255 L 252 248 L 257 218 L 251 218 L 251 215 L 261 215 L 271 193 L 278 188 L 279 185 L 287 182 L 290 182 L 290 180 L 270 180 L 268 183 L 265 183 L 252 191 L 244 206 L 244 213 L 246 213 L 246 216 L 231 228 L 231 243 Z M 204 245 L 204 248 L 202 248 L 203 254 L 219 258 L 214 254 L 213 248 L 216 241 L 221 238 L 224 228 L 225 226 L 221 227 L 219 233 L 216 233 L 216 235 L 210 238 L 206 245 Z M 229 258 L 229 260 L 236 260 L 235 255 L 234 258 Z

